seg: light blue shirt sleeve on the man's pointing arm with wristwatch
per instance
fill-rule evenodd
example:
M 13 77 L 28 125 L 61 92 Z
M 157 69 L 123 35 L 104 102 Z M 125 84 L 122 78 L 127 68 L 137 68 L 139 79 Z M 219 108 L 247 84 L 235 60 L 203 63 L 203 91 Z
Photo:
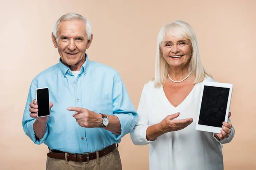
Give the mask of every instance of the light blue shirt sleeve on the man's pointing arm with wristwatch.
M 113 115 L 119 119 L 121 124 L 121 134 L 115 135 L 113 133 L 115 139 L 119 140 L 131 133 L 137 122 L 137 111 L 119 74 L 114 77 L 113 83 Z

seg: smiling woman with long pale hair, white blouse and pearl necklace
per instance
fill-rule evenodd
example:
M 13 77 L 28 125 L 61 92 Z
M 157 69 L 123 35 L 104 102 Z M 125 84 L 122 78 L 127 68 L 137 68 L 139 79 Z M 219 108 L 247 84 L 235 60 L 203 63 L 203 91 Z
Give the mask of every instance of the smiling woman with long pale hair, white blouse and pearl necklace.
M 131 133 L 134 144 L 149 144 L 150 170 L 224 169 L 222 144 L 235 133 L 230 119 L 220 133 L 195 130 L 193 122 L 204 81 L 215 82 L 201 63 L 192 27 L 183 21 L 163 26 L 155 77 L 143 88 Z

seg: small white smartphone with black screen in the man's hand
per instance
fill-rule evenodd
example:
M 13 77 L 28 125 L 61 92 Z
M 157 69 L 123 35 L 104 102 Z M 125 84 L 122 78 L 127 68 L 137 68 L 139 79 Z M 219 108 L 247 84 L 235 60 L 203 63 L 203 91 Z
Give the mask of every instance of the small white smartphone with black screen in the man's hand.
M 38 105 L 38 117 L 50 116 L 49 88 L 35 90 Z

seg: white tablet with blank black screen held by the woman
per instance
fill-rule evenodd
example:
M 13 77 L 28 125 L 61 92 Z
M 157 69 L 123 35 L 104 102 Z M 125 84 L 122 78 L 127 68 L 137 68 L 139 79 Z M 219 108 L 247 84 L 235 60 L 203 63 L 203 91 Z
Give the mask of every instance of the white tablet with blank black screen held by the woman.
M 203 82 L 196 130 L 220 133 L 222 122 L 227 122 L 233 85 Z

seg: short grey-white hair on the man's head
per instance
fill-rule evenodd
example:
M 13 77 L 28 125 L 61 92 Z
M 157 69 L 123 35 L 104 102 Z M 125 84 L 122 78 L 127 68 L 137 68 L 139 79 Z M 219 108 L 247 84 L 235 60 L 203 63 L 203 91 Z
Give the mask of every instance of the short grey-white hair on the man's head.
M 57 30 L 58 30 L 58 25 L 61 23 L 61 21 L 65 20 L 83 20 L 85 24 L 85 29 L 86 29 L 86 34 L 87 34 L 87 40 L 91 39 L 91 26 L 90 22 L 83 16 L 76 14 L 76 13 L 67 13 L 62 15 L 57 22 L 55 23 L 54 29 L 53 29 L 53 36 L 57 39 Z

